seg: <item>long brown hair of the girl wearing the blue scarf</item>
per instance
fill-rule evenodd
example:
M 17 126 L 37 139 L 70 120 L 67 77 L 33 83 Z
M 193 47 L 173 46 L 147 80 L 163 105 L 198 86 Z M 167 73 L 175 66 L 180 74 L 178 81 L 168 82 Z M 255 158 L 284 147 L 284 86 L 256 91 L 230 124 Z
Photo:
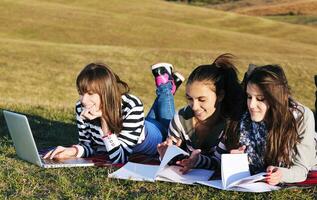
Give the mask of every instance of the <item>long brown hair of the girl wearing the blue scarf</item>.
M 279 65 L 257 67 L 247 78 L 247 84 L 257 85 L 269 105 L 264 118 L 268 128 L 265 163 L 290 166 L 291 155 L 300 141 L 298 124 L 303 120 L 303 113 L 291 98 L 284 70 Z M 293 112 L 300 117 L 295 119 Z

